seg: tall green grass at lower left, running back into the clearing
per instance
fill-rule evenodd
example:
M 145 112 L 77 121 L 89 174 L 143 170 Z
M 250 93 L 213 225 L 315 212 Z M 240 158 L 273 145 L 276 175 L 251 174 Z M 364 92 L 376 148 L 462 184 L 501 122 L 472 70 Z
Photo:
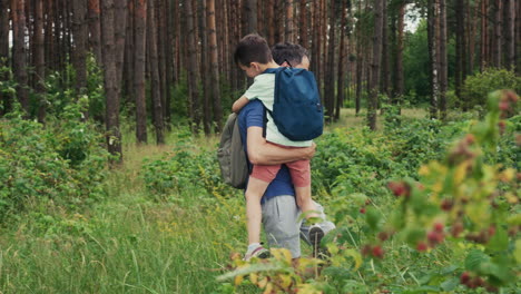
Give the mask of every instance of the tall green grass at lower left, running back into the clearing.
M 344 109 L 332 127 L 361 127 L 364 119 Z M 229 254 L 244 246 L 243 199 L 187 193 L 156 202 L 139 178 L 144 158 L 159 158 L 183 136 L 186 130 L 173 131 L 164 146 L 124 141 L 125 163 L 106 183 L 108 198 L 91 209 L 69 213 L 49 203 L 4 224 L 0 293 L 215 291 Z M 199 136 L 194 148 L 215 149 L 217 143 L 216 136 Z

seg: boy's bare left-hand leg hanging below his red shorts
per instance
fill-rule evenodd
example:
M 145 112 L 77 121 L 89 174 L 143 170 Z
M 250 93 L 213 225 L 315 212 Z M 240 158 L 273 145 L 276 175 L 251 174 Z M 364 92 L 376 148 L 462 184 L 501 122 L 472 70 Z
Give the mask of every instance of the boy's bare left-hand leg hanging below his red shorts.
M 246 189 L 246 223 L 248 229 L 248 244 L 260 243 L 262 208 L 260 198 L 266 192 L 268 182 L 249 177 Z

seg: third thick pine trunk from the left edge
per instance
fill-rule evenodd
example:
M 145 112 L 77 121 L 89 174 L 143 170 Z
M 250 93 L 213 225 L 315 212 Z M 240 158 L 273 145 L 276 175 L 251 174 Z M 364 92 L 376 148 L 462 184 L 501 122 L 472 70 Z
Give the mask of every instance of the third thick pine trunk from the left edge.
M 38 97 L 38 121 L 46 120 L 46 45 L 43 41 L 43 0 L 35 1 L 35 56 L 36 91 Z

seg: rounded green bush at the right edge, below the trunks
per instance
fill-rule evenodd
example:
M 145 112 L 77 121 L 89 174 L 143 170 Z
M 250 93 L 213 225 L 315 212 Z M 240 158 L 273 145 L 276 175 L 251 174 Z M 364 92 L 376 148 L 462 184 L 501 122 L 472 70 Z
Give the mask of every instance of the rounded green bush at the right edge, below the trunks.
M 498 89 L 510 89 L 521 92 L 521 77 L 505 69 L 489 68 L 483 72 L 466 78 L 461 90 L 468 108 L 486 106 L 486 95 Z

